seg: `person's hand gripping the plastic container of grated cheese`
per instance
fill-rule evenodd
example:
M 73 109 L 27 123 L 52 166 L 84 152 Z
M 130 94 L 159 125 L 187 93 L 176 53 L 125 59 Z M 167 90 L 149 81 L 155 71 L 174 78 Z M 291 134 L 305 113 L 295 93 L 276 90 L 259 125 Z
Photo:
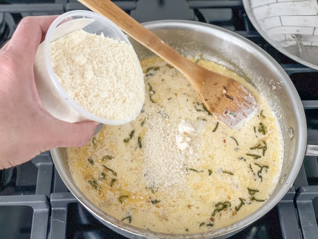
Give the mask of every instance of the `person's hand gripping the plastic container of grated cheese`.
M 55 18 L 23 18 L 0 49 L 0 169 L 51 148 L 82 146 L 95 129 L 101 129 L 93 121 L 58 120 L 41 105 L 33 66 L 38 46 Z

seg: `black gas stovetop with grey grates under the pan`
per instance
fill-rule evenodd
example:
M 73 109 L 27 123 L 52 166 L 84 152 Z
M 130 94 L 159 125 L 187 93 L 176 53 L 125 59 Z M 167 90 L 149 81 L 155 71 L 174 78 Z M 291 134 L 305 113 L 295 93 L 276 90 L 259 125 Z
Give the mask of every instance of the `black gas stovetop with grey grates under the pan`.
M 139 22 L 195 20 L 218 25 L 253 41 L 275 58 L 295 84 L 305 106 L 308 142 L 318 144 L 318 72 L 278 52 L 252 27 L 242 1 L 114 1 Z M 86 9 L 75 0 L 0 0 L 0 46 L 25 16 Z M 49 152 L 0 171 L 0 238 L 125 238 L 97 221 L 68 191 Z M 280 203 L 231 239 L 310 239 L 318 237 L 318 158 L 306 156 Z

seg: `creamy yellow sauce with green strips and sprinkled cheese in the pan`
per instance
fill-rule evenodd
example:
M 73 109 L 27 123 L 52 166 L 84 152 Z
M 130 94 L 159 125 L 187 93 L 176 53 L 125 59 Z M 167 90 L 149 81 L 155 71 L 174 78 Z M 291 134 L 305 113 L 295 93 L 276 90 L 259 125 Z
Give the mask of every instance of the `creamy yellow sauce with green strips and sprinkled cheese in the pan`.
M 197 64 L 244 84 L 258 111 L 236 128 L 217 126 L 182 74 L 160 58 L 142 60 L 146 100 L 136 120 L 67 149 L 75 183 L 108 214 L 152 231 L 196 233 L 242 219 L 273 192 L 283 156 L 274 112 L 234 72 Z

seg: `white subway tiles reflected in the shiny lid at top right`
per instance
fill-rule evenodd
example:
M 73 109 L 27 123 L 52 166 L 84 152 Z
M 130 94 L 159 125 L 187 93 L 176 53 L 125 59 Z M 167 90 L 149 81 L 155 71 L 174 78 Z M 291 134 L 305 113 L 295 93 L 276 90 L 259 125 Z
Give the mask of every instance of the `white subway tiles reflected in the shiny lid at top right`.
M 304 35 L 303 44 L 318 39 L 317 0 L 251 0 L 255 18 L 269 38 L 287 47 L 296 44 L 292 34 Z

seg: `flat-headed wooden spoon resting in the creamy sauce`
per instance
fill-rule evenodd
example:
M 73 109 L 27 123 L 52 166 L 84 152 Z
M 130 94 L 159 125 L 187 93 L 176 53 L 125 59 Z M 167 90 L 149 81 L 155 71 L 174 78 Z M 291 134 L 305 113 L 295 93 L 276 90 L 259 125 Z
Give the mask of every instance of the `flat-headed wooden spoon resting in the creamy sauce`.
M 256 109 L 252 92 L 227 76 L 205 69 L 165 44 L 110 0 L 78 0 L 114 22 L 122 31 L 169 62 L 190 81 L 206 108 L 220 121 L 234 127 Z

